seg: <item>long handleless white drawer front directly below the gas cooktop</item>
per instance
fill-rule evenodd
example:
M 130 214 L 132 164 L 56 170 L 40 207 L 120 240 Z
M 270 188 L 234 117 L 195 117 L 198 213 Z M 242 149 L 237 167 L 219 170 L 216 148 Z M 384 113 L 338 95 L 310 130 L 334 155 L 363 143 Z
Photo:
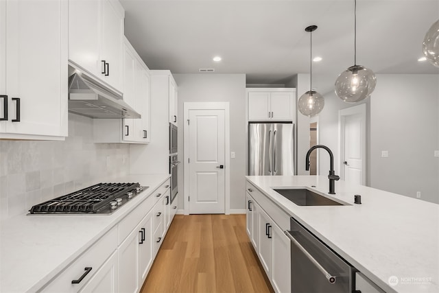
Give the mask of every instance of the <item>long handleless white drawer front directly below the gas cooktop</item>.
M 135 209 L 131 211 L 125 218 L 119 222 L 119 242 L 121 244 L 123 240 L 130 235 L 132 229 L 136 228 L 137 224 L 145 217 L 145 215 L 154 206 L 155 198 L 150 195 L 143 200 Z

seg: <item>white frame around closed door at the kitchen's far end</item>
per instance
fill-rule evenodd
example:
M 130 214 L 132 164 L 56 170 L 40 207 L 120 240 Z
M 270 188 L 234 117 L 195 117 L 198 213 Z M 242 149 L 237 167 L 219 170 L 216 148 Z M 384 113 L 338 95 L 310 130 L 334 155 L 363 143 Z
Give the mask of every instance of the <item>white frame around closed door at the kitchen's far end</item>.
M 189 128 L 187 127 L 187 121 L 189 120 L 189 110 L 224 110 L 224 211 L 226 215 L 230 214 L 230 114 L 229 114 L 229 102 L 185 102 L 183 103 L 183 119 L 185 121 L 183 127 L 184 135 L 184 152 L 183 152 L 183 165 L 184 165 L 184 182 L 185 193 L 183 194 L 183 200 L 185 203 L 185 215 L 189 215 L 189 163 L 186 163 L 189 159 Z

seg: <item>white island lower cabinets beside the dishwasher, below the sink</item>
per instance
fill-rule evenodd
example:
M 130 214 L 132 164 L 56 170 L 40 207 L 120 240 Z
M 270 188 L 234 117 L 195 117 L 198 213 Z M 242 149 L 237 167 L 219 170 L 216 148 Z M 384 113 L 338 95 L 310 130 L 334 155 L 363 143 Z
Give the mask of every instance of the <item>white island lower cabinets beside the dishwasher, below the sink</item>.
M 268 198 L 261 198 L 263 195 L 255 188 L 250 188 L 248 191 L 246 192 L 248 237 L 274 291 L 291 292 L 290 242 L 281 228 L 281 226 L 285 227 L 285 221 L 278 225 L 279 223 L 273 220 L 285 212 L 274 207 L 272 202 L 266 202 Z M 253 195 L 260 201 L 257 202 Z M 281 218 L 281 220 L 285 219 Z

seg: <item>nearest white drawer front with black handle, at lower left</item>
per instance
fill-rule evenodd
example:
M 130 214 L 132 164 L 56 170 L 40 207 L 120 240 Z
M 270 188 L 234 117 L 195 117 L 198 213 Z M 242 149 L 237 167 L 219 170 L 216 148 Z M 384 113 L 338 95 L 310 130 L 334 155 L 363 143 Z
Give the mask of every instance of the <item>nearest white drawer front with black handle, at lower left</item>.
M 116 248 L 117 226 L 114 226 L 40 292 L 78 292 L 95 275 Z M 85 268 L 91 268 L 91 270 L 87 273 L 88 269 L 85 270 Z M 81 277 L 83 278 L 81 279 Z M 73 280 L 77 280 L 79 283 L 72 283 Z

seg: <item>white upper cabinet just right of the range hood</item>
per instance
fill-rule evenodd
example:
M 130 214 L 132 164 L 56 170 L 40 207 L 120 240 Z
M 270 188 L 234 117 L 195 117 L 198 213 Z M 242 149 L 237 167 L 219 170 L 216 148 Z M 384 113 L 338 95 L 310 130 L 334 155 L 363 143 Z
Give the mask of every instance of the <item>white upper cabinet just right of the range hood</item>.
M 150 142 L 150 70 L 126 38 L 123 45 L 123 101 L 141 118 L 94 119 L 95 142 Z

